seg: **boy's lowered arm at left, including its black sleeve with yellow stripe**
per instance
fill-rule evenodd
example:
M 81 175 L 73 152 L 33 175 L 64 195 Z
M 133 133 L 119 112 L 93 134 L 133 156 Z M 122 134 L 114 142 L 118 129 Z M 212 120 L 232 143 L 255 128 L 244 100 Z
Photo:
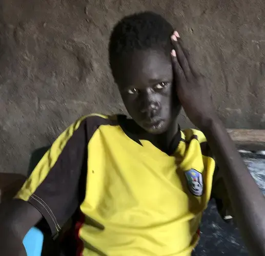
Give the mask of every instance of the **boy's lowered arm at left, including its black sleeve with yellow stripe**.
M 70 125 L 39 161 L 15 199 L 0 204 L 0 255 L 26 255 L 23 239 L 42 218 L 55 237 L 83 198 L 91 118 Z M 92 127 L 89 129 L 88 127 Z M 83 188 L 83 190 L 81 189 Z

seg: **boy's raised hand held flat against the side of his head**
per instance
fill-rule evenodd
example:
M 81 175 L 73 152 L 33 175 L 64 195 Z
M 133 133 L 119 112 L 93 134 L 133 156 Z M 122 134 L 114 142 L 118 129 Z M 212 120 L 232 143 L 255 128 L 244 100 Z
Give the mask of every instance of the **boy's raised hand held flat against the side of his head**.
M 189 119 L 199 128 L 217 118 L 204 79 L 192 67 L 178 32 L 171 36 L 173 73 L 178 98 Z

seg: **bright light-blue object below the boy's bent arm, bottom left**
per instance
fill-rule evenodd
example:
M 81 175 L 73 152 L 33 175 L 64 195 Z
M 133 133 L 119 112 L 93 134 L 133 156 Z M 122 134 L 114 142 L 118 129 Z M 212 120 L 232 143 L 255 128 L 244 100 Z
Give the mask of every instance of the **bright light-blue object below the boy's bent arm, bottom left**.
M 43 249 L 43 233 L 36 227 L 32 227 L 23 239 L 28 256 L 40 256 Z

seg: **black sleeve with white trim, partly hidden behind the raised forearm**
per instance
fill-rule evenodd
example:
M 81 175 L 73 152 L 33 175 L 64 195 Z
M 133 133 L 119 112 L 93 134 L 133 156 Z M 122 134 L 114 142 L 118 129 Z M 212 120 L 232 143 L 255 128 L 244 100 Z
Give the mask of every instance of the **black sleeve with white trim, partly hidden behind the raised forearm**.
M 219 167 L 216 165 L 214 176 L 211 198 L 215 199 L 216 207 L 219 215 L 223 220 L 229 222 L 233 219 L 233 212 L 231 208 L 230 199 L 228 196 L 227 188 L 223 178 L 221 176 Z

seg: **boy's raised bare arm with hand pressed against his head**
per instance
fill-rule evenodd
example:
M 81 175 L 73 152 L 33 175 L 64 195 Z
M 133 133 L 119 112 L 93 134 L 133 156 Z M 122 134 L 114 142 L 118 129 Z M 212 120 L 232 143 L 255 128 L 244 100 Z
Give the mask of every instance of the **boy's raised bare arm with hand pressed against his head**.
M 218 119 L 206 81 L 194 69 L 175 31 L 171 52 L 176 93 L 189 119 L 206 135 L 216 157 L 242 237 L 253 255 L 265 255 L 265 199 Z

